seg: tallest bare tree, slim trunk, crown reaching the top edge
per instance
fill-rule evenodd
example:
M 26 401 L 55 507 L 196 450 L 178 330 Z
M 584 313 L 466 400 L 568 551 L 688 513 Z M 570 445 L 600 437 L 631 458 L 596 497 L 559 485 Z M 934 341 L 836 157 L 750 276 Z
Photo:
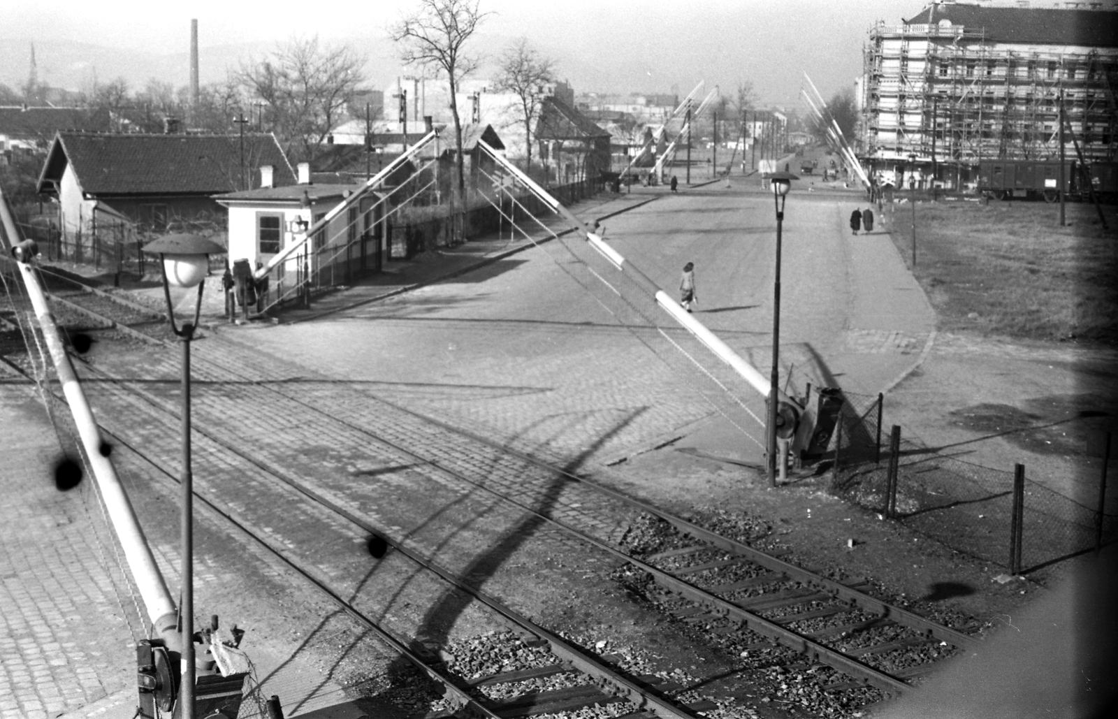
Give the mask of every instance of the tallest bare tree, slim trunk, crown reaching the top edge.
M 406 65 L 429 69 L 435 77 L 446 74 L 457 150 L 456 189 L 458 206 L 463 209 L 466 197 L 466 170 L 462 157 L 462 119 L 458 116 L 457 92 L 462 79 L 477 69 L 481 63 L 477 56 L 467 55 L 463 48 L 486 15 L 479 8 L 477 0 L 419 0 L 419 7 L 389 30 L 389 37 L 401 44 L 400 59 Z

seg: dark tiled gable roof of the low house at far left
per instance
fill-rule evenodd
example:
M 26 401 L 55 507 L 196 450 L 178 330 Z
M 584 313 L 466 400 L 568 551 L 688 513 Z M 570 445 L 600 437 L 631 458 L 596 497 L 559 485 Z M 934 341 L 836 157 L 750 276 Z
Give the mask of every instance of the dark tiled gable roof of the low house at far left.
M 39 191 L 51 192 L 72 164 L 92 196 L 214 195 L 240 186 L 240 136 L 59 132 L 47 154 Z M 245 180 L 259 187 L 260 165 L 273 167 L 276 186 L 295 173 L 271 133 L 244 136 Z

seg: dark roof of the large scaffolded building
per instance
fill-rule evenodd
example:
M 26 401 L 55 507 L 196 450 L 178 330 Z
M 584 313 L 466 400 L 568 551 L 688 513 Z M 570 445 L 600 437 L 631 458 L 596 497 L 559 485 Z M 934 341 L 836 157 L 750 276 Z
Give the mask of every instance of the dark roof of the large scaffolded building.
M 1118 12 L 1062 10 L 1057 8 L 1005 8 L 972 4 L 929 6 L 908 25 L 935 25 L 941 20 L 984 30 L 995 42 L 1043 42 L 1087 47 L 1118 47 Z

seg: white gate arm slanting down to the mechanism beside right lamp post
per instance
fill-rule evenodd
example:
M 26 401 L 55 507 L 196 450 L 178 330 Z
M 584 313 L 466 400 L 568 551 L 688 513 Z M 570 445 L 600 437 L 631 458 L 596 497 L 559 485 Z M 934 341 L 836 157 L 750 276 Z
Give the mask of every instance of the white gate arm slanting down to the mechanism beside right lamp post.
M 765 376 L 759 372 L 752 365 L 747 362 L 741 356 L 735 352 L 729 346 L 720 340 L 713 332 L 711 332 L 707 327 L 704 327 L 699 320 L 694 318 L 691 313 L 684 310 L 675 300 L 673 300 L 666 292 L 661 290 L 655 282 L 653 282 L 647 275 L 645 275 L 641 269 L 635 267 L 632 263 L 627 262 L 625 257 L 620 255 L 615 248 L 610 247 L 605 240 L 598 235 L 590 231 L 589 227 L 586 226 L 580 219 L 575 217 L 575 215 L 568 210 L 559 200 L 553 198 L 547 190 L 541 188 L 531 178 L 524 174 L 520 168 L 515 167 L 508 159 L 498 153 L 493 148 L 486 144 L 484 141 L 480 140 L 482 149 L 489 154 L 498 164 L 500 164 L 505 171 L 517 178 L 524 187 L 527 187 L 540 201 L 544 202 L 555 212 L 566 219 L 571 227 L 576 228 L 582 236 L 586 237 L 587 243 L 603 257 L 605 257 L 609 264 L 612 264 L 619 272 L 627 274 L 635 283 L 646 293 L 650 300 L 653 300 L 662 310 L 664 310 L 676 323 L 683 327 L 688 332 L 694 335 L 703 346 L 707 347 L 716 357 L 718 357 L 722 362 L 729 366 L 733 372 L 743 379 L 750 387 L 754 388 L 762 398 L 768 398 L 770 390 L 770 380 L 766 379 Z M 778 400 L 784 403 L 793 404 L 797 409 L 802 408 L 802 404 L 794 400 L 790 396 L 786 395 L 779 388 L 777 389 Z

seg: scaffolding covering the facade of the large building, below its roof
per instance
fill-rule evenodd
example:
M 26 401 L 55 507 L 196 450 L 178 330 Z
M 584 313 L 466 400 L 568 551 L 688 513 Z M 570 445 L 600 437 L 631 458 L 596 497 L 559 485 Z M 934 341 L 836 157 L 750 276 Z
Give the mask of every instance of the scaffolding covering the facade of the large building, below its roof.
M 982 30 L 885 25 L 864 51 L 862 148 L 872 170 L 913 162 L 920 185 L 963 187 L 983 160 L 1114 161 L 1118 53 L 1057 44 L 995 42 Z

